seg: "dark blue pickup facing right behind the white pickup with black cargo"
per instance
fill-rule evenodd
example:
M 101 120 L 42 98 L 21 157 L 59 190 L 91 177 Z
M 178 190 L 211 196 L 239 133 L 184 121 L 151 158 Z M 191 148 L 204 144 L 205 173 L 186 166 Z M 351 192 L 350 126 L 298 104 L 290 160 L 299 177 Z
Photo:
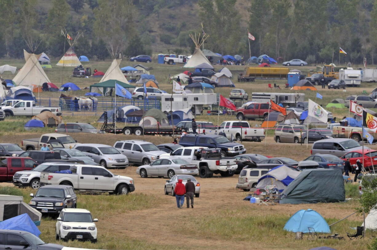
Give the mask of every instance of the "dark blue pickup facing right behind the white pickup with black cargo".
M 202 146 L 208 148 L 220 148 L 221 157 L 236 156 L 239 154 L 245 154 L 245 146 L 231 142 L 224 136 L 212 135 L 212 134 L 188 134 L 179 140 L 179 145 L 184 147 L 189 146 Z

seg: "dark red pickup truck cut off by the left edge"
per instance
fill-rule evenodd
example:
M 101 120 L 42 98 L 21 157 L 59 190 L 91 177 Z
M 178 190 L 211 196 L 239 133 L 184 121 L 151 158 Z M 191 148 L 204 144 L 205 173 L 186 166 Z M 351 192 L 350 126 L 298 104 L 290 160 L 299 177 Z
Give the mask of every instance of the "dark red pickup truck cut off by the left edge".
M 29 157 L 0 157 L 0 181 L 12 181 L 17 171 L 30 170 L 38 163 Z

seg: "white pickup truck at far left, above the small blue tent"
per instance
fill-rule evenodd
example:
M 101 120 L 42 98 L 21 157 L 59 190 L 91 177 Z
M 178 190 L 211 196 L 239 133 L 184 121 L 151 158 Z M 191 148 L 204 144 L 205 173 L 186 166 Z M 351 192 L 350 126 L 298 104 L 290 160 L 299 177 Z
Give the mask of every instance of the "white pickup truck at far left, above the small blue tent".
M 43 111 L 51 111 L 56 116 L 61 116 L 59 107 L 36 106 L 34 101 L 19 101 L 11 107 L 3 109 L 5 116 L 36 116 Z

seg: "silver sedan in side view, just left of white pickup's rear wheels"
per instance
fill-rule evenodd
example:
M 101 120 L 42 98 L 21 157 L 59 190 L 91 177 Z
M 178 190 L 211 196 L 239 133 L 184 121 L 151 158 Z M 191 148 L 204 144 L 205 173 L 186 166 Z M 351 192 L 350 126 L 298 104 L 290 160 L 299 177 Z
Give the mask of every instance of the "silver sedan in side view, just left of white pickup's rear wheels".
M 183 159 L 158 159 L 149 165 L 139 166 L 136 174 L 139 174 L 141 178 L 148 176 L 172 178 L 176 174 L 198 175 L 199 170 L 196 164 L 190 164 Z

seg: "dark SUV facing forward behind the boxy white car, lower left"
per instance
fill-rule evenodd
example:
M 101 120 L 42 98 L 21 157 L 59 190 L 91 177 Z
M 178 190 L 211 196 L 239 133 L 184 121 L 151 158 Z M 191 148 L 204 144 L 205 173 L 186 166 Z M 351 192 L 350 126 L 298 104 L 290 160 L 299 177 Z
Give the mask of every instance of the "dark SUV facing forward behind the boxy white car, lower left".
M 72 186 L 48 185 L 30 194 L 29 205 L 41 213 L 60 213 L 63 208 L 76 207 L 77 196 Z

